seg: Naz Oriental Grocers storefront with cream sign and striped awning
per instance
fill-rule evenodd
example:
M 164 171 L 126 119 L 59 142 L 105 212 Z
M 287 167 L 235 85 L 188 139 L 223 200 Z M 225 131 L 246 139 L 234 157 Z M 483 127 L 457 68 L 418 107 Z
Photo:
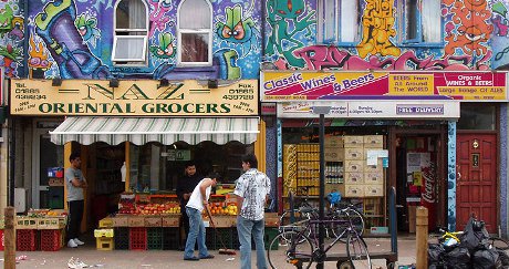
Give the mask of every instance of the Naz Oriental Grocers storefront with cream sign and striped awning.
M 218 87 L 190 80 L 166 85 L 120 81 L 116 87 L 108 81 L 64 80 L 54 85 L 48 80 L 13 80 L 10 90 L 18 135 L 40 138 L 33 151 L 17 149 L 35 166 L 31 183 L 20 185 L 38 187 L 30 192 L 32 206 L 66 207 L 65 188 L 53 180 L 58 176 L 51 170 L 67 167 L 70 154 L 80 152 L 89 180 L 83 230 L 118 210 L 126 192 L 166 199 L 162 204 L 175 201 L 186 161 L 195 161 L 201 175 L 218 172 L 221 187 L 228 188 L 240 176 L 239 156 L 254 153 L 264 158 L 254 80 Z M 23 127 L 29 122 L 30 130 Z M 35 154 L 29 156 L 30 152 Z M 260 165 L 263 169 L 264 162 Z M 22 169 L 29 168 L 17 170 Z

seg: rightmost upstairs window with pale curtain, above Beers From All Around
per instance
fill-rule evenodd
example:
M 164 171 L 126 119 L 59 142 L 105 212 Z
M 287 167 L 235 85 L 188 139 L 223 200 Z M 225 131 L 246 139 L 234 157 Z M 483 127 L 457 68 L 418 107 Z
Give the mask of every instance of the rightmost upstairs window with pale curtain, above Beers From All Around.
M 403 18 L 403 43 L 440 43 L 440 0 L 405 0 Z

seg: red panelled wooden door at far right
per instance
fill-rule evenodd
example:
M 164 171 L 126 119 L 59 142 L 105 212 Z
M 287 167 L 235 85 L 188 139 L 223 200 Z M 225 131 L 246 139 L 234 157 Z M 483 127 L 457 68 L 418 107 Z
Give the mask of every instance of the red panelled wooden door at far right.
M 456 229 L 475 214 L 497 232 L 497 135 L 458 134 L 456 158 Z

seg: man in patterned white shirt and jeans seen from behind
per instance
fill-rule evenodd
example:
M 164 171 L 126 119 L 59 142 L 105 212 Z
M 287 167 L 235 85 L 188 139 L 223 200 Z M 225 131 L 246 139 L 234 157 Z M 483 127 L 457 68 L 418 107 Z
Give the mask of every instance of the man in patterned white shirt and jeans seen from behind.
M 237 231 L 240 241 L 240 268 L 251 268 L 251 236 L 257 248 L 257 267 L 267 268 L 264 234 L 264 205 L 270 194 L 269 177 L 258 170 L 258 161 L 253 154 L 242 156 L 245 173 L 237 179 L 233 194 L 240 208 L 237 216 Z

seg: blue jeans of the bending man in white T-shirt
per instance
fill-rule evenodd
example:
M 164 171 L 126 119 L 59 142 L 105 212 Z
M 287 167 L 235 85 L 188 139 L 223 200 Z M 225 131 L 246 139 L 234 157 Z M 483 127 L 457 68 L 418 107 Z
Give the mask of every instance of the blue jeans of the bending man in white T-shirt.
M 205 225 L 201 219 L 201 213 L 190 207 L 186 207 L 186 213 L 189 217 L 189 235 L 187 235 L 184 259 L 194 257 L 196 240 L 198 240 L 199 257 L 206 257 L 208 256 L 208 250 L 207 246 L 205 246 Z

